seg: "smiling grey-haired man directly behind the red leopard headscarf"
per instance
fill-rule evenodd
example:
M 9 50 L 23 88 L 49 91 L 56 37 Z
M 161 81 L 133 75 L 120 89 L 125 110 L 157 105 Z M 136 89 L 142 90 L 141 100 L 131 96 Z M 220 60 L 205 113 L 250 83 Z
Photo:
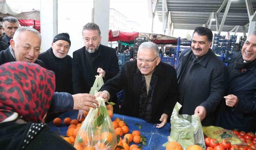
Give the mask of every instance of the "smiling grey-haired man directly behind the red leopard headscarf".
M 10 46 L 0 52 L 0 65 L 6 62 L 22 61 L 36 63 L 44 67 L 44 62 L 38 60 L 41 46 L 40 33 L 30 27 L 16 30 Z

